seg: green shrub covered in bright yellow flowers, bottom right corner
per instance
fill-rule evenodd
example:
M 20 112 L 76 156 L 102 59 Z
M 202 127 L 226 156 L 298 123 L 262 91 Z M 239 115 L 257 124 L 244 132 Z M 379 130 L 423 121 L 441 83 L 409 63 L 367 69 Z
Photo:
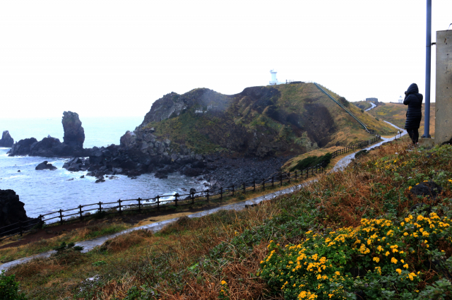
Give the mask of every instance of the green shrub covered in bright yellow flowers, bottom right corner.
M 270 241 L 261 277 L 286 299 L 355 299 L 355 293 L 415 299 L 432 263 L 436 272 L 452 272 L 439 263 L 445 261 L 445 245 L 452 244 L 451 223 L 432 212 L 394 222 L 362 219 L 358 227 L 322 234 L 309 231 L 300 244 L 284 247 Z

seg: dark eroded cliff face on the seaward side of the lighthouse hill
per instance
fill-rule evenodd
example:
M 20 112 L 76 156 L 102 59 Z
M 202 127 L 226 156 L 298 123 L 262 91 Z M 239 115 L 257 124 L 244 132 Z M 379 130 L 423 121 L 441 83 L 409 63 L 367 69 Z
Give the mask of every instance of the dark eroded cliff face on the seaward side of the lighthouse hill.
M 246 88 L 236 95 L 206 88 L 184 95 L 172 92 L 153 103 L 143 123 L 123 137 L 124 145 L 131 140 L 153 155 L 162 152 L 155 140 L 169 139 L 173 150 L 184 145 L 196 153 L 225 150 L 256 157 L 326 145 L 335 132 L 328 108 L 311 103 L 316 99 L 287 107 L 286 98 L 278 88 L 268 86 Z

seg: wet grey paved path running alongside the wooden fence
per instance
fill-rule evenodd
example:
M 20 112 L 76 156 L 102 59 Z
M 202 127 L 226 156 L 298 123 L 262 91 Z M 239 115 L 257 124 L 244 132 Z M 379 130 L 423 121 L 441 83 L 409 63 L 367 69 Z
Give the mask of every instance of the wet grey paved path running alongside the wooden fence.
M 386 121 L 385 121 L 386 122 Z M 388 124 L 391 124 L 389 122 L 386 122 Z M 397 126 L 391 124 L 392 126 L 398 128 Z M 400 130 L 403 130 L 401 128 L 398 128 Z M 376 143 L 374 145 L 369 146 L 368 148 L 365 148 L 366 150 L 370 150 L 371 148 L 375 148 L 378 147 L 379 145 L 382 145 L 383 143 L 387 143 L 388 141 L 394 140 L 400 136 L 405 135 L 407 132 L 403 131 L 403 133 L 401 135 L 398 136 L 394 136 L 393 138 L 382 138 L 383 141 L 381 141 L 380 143 Z M 333 168 L 333 170 L 331 172 L 338 172 L 343 170 L 347 164 L 350 164 L 350 162 L 352 161 L 352 158 L 355 157 L 355 152 L 353 152 L 350 155 L 347 155 L 346 157 L 343 157 L 343 159 L 339 160 L 339 162 L 335 165 L 335 167 Z M 311 181 L 307 181 L 304 182 L 303 184 L 297 184 L 295 186 L 291 186 L 290 188 L 285 188 L 281 191 L 276 191 L 274 193 L 269 193 L 267 195 L 261 196 L 261 197 L 257 197 L 257 198 L 253 198 L 251 200 L 245 200 L 239 203 L 232 203 L 229 205 L 224 205 L 224 206 L 220 206 L 218 208 L 213 208 L 210 210 L 204 210 L 202 212 L 196 212 L 194 214 L 188 215 L 187 217 L 203 217 L 205 215 L 210 215 L 213 214 L 215 212 L 218 212 L 220 210 L 243 210 L 245 208 L 246 205 L 254 205 L 257 203 L 261 203 L 263 200 L 270 200 L 272 198 L 281 196 L 281 195 L 285 195 L 287 193 L 293 193 L 295 191 L 298 191 L 300 188 L 302 188 L 303 186 L 307 186 L 308 184 L 310 184 L 312 181 L 316 181 L 316 179 L 312 179 Z M 109 234 L 107 236 L 100 236 L 98 238 L 95 239 L 89 239 L 87 241 L 79 241 L 78 243 L 76 243 L 76 246 L 82 246 L 83 247 L 83 253 L 88 252 L 90 250 L 93 250 L 93 248 L 95 248 L 96 246 L 100 246 L 102 244 L 105 243 L 105 241 L 107 241 L 108 239 L 112 239 L 115 236 L 119 236 L 121 234 L 126 234 L 129 232 L 132 232 L 133 230 L 139 230 L 139 229 L 147 229 L 150 230 L 152 232 L 158 232 L 160 229 L 162 229 L 163 227 L 165 227 L 167 224 L 171 224 L 172 222 L 175 222 L 177 219 L 179 219 L 178 217 L 174 218 L 174 219 L 169 219 L 169 220 L 165 220 L 162 222 L 155 222 L 152 224 L 146 224 L 140 227 L 133 227 L 131 229 L 126 229 L 122 232 L 117 232 L 116 234 Z M 9 263 L 4 263 L 3 265 L 0 265 L 0 271 L 1 270 L 7 270 L 8 268 L 13 267 L 14 265 L 19 265 L 21 263 L 26 263 L 29 260 L 32 260 L 34 258 L 47 258 L 50 255 L 52 255 L 52 253 L 56 253 L 57 251 L 51 250 L 51 251 L 47 251 L 44 253 L 40 253 L 40 254 L 36 254 L 35 256 L 29 256 L 26 258 L 20 258 L 18 260 L 13 260 L 10 261 Z

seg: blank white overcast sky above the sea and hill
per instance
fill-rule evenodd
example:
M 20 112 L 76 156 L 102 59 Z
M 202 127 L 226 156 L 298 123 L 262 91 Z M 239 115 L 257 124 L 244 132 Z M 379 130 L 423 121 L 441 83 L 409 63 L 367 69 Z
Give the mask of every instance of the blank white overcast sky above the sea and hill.
M 452 1 L 432 11 L 435 42 Z M 0 1 L 0 117 L 144 116 L 169 92 L 266 85 L 270 68 L 397 101 L 424 93 L 425 21 L 425 0 Z

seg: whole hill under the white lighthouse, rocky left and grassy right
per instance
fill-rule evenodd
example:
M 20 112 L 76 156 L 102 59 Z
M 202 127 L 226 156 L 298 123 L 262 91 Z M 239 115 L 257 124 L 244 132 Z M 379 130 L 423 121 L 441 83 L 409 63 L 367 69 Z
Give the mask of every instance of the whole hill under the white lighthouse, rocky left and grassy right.
M 376 133 L 395 133 L 354 105 L 347 109 Z M 138 131 L 149 128 L 155 128 L 158 138 L 172 140 L 174 147 L 184 144 L 198 153 L 258 157 L 299 154 L 371 137 L 313 83 L 252 87 L 236 95 L 208 89 L 173 92 L 153 104 Z

